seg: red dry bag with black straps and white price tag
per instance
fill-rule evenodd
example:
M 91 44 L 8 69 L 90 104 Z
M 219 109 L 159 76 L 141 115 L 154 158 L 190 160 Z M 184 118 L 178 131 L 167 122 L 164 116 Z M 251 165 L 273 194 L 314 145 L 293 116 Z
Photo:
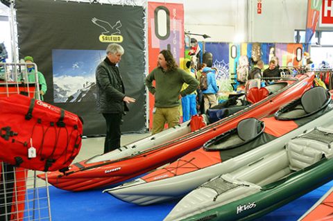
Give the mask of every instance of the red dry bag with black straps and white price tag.
M 0 161 L 31 170 L 67 168 L 80 150 L 76 114 L 23 95 L 0 98 Z

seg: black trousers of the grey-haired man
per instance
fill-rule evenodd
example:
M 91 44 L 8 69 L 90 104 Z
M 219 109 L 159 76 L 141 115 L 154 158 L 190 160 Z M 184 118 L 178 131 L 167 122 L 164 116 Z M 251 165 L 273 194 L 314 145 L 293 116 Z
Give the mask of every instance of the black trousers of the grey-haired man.
M 105 114 L 103 116 L 106 121 L 106 136 L 104 142 L 104 153 L 120 148 L 121 137 L 121 119 L 122 114 Z

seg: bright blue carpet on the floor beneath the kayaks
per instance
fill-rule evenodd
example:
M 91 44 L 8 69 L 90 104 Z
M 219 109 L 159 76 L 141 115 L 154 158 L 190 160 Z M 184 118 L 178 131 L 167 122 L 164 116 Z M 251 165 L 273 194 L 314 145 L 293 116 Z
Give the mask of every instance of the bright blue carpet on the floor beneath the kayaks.
M 333 181 L 257 220 L 297 220 L 332 186 Z M 108 193 L 101 193 L 101 190 L 71 193 L 51 186 L 49 191 L 53 221 L 163 220 L 178 202 L 173 200 L 163 204 L 137 206 L 117 200 Z

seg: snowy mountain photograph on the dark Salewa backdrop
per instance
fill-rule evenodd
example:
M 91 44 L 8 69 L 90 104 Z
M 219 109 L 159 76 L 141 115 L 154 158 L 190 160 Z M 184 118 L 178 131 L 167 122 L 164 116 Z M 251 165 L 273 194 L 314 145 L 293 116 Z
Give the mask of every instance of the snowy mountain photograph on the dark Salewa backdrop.
M 104 58 L 104 50 L 53 49 L 53 102 L 95 100 L 95 70 Z

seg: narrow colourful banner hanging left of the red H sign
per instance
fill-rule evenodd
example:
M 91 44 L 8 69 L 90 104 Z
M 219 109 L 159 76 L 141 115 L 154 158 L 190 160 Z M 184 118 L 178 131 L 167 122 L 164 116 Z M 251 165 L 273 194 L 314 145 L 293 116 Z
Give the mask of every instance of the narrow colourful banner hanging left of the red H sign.
M 309 52 L 309 45 L 311 38 L 316 31 L 318 19 L 321 10 L 322 0 L 308 0 L 307 1 L 307 30 L 305 33 L 305 51 Z

